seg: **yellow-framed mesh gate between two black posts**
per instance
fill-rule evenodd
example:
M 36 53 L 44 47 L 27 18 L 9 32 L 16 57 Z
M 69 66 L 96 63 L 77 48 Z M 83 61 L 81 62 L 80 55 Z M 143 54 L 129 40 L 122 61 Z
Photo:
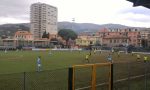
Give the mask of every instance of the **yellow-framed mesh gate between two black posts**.
M 111 63 L 74 65 L 70 68 L 69 90 L 110 90 Z

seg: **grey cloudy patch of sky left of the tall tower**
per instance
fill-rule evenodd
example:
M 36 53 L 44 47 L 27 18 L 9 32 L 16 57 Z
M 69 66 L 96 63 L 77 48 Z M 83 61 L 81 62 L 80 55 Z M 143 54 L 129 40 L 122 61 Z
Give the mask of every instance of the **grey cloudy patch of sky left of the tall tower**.
M 1 0 L 0 24 L 28 22 L 29 6 L 27 0 Z

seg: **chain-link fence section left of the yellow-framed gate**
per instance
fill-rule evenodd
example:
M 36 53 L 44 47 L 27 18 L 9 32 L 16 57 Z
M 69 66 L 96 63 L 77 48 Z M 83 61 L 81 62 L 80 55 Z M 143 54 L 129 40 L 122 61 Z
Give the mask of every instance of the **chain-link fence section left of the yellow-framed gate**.
M 67 90 L 68 69 L 0 75 L 0 90 Z

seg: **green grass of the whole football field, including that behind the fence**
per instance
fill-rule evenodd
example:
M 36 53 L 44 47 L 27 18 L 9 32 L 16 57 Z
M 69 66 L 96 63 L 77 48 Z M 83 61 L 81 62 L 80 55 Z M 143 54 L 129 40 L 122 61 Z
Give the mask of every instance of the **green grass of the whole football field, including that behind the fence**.
M 42 90 L 43 88 L 44 90 L 67 90 L 68 67 L 78 64 L 88 64 L 84 60 L 87 53 L 89 52 L 83 51 L 79 53 L 78 51 L 52 51 L 52 55 L 49 55 L 48 51 L 8 51 L 7 53 L 1 51 L 0 90 L 3 90 L 4 87 L 5 90 L 23 89 L 23 72 L 27 72 L 25 74 L 25 84 L 27 90 Z M 90 63 L 107 62 L 107 55 L 108 53 L 92 54 L 92 56 L 90 56 Z M 35 72 L 36 59 L 38 56 L 41 56 L 43 70 L 40 73 Z M 136 61 L 136 55 L 132 56 L 131 54 L 121 53 L 120 57 L 118 57 L 115 53 L 113 54 L 113 60 L 114 62 Z M 143 55 L 141 55 L 141 61 L 143 61 Z M 130 64 L 129 70 L 127 68 L 127 64 L 114 64 L 114 79 L 117 80 L 128 77 L 128 71 L 131 72 L 131 76 L 140 75 L 143 73 L 143 66 L 144 64 L 140 63 Z M 108 82 L 109 67 L 97 67 L 96 72 L 97 83 Z M 76 69 L 75 80 L 76 88 L 91 85 L 91 67 Z M 132 80 L 132 85 L 134 87 L 142 86 L 140 80 L 141 79 Z M 122 83 L 116 83 L 115 86 L 120 86 L 119 88 L 122 88 L 119 90 L 126 90 L 128 83 L 125 81 Z M 107 86 L 102 86 L 100 88 L 108 88 Z

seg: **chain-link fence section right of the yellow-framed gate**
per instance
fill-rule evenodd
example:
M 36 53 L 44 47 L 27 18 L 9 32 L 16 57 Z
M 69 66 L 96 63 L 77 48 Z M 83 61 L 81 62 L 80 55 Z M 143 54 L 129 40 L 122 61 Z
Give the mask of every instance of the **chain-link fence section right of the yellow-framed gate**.
M 150 90 L 150 62 L 114 63 L 114 90 Z

